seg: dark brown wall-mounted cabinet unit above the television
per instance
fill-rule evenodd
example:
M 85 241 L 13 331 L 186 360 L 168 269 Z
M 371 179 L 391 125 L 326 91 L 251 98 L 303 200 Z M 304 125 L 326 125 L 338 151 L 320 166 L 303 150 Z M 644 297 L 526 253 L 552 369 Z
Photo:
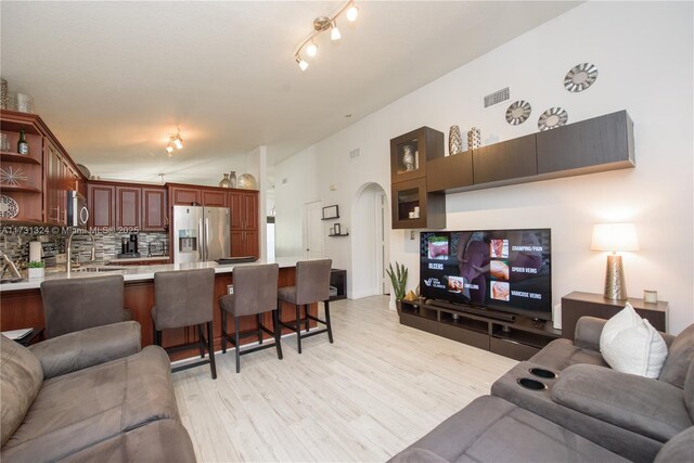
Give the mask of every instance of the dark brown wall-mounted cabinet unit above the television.
M 428 130 L 436 132 L 433 129 Z M 633 123 L 626 111 L 490 144 L 453 156 L 442 155 L 441 141 L 440 151 L 437 152 L 440 155 L 427 156 L 425 175 L 419 176 L 423 180 L 420 184 L 424 184 L 427 192 L 426 195 L 419 195 L 419 207 L 421 211 L 427 210 L 428 214 L 423 219 L 409 219 L 409 216 L 403 216 L 401 210 L 404 207 L 403 204 L 408 203 L 407 197 L 402 198 L 402 196 L 407 195 L 402 193 L 401 181 L 398 182 L 396 179 L 402 179 L 404 173 L 411 172 L 396 171 L 399 152 L 394 151 L 394 142 L 397 146 L 397 143 L 402 143 L 403 137 L 414 132 L 390 140 L 394 229 L 445 228 L 446 193 L 635 166 Z M 436 133 L 442 137 L 442 133 Z M 432 207 L 430 201 L 437 202 L 435 207 Z M 423 207 L 423 204 L 426 207 Z M 444 217 L 437 217 L 432 221 L 429 216 L 433 211 L 440 213 Z

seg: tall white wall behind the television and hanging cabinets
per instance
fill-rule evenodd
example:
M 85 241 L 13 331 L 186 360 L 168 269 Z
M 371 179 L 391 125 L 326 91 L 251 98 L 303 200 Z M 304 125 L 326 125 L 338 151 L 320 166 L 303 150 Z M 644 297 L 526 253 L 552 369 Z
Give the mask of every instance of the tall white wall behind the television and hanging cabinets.
M 278 166 L 277 177 L 295 169 L 292 163 L 317 160 L 311 193 L 339 204 L 342 213 L 367 182 L 389 193 L 389 139 L 417 127 L 448 133 L 453 124 L 463 132 L 475 126 L 483 143 L 491 143 L 536 132 L 538 117 L 552 106 L 566 108 L 569 124 L 627 110 L 635 169 L 448 195 L 447 228 L 551 228 L 558 303 L 570 291 L 602 292 L 605 254 L 590 250 L 591 226 L 632 221 L 641 250 L 625 255 L 628 291 L 641 297 L 644 288 L 657 290 L 670 303 L 669 331 L 678 333 L 694 322 L 693 22 L 691 2 L 584 3 L 298 153 Z M 567 92 L 564 75 L 582 62 L 597 66 L 597 81 Z M 504 87 L 511 100 L 485 110 L 483 97 Z M 529 101 L 532 114 L 514 127 L 504 113 L 515 100 Z M 361 156 L 350 163 L 355 147 Z M 349 258 L 350 245 L 332 240 L 325 246 L 348 275 L 361 270 Z M 391 231 L 390 260 L 410 268 L 414 287 L 417 242 L 409 232 Z

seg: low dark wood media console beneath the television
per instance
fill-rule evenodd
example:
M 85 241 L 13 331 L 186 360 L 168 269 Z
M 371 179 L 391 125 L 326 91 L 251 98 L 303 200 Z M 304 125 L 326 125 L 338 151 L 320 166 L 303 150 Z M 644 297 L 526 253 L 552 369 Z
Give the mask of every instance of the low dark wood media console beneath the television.
M 529 317 L 452 307 L 436 301 L 400 301 L 400 323 L 516 360 L 528 360 L 550 342 L 562 337 L 551 322 Z M 485 313 L 486 312 L 486 313 Z

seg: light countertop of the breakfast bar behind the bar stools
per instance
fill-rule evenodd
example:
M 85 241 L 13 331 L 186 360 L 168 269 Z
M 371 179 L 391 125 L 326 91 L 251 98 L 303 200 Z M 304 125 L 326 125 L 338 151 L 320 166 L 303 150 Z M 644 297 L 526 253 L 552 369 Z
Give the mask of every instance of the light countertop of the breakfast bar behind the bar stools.
M 139 260 L 139 259 L 136 259 Z M 76 279 L 76 278 L 92 278 L 104 276 L 108 274 L 121 274 L 126 282 L 130 281 L 147 281 L 154 280 L 155 272 L 164 272 L 171 270 L 192 270 L 192 269 L 215 269 L 215 273 L 231 273 L 235 267 L 255 266 L 258 263 L 278 263 L 280 268 L 295 267 L 299 260 L 316 260 L 307 259 L 304 257 L 278 257 L 271 262 L 257 260 L 255 262 L 234 263 L 220 266 L 217 262 L 190 262 L 190 263 L 162 263 L 153 266 L 98 266 L 99 271 L 73 271 L 67 273 L 64 271 L 47 273 L 43 278 L 25 279 L 16 283 L 2 283 L 0 284 L 0 293 L 21 291 L 21 290 L 35 290 L 41 286 L 41 282 L 47 280 L 61 280 L 61 279 Z M 113 260 L 112 260 L 113 262 Z M 82 268 L 89 268 L 90 266 L 83 266 Z M 110 269 L 111 267 L 111 269 Z M 115 267 L 115 268 L 114 268 Z

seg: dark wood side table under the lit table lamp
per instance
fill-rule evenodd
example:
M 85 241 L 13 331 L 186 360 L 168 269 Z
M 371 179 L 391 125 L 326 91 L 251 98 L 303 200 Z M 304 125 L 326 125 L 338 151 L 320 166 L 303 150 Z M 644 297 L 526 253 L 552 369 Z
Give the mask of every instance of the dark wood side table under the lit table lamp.
M 660 332 L 666 332 L 668 303 L 659 300 L 657 304 L 647 304 L 643 299 L 630 297 L 629 303 L 639 316 Z M 574 340 L 576 323 L 581 317 L 597 317 L 609 319 L 624 309 L 626 300 L 606 299 L 602 294 L 581 293 L 575 291 L 562 297 L 562 337 Z

